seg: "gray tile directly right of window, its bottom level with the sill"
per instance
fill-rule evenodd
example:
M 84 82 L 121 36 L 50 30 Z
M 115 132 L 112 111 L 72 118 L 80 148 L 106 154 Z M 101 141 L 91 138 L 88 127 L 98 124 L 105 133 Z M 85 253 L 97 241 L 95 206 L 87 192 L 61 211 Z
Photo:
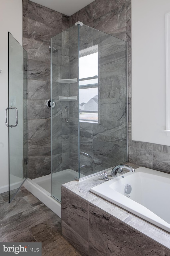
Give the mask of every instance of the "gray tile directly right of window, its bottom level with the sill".
M 99 100 L 99 119 L 126 122 L 126 98 Z

